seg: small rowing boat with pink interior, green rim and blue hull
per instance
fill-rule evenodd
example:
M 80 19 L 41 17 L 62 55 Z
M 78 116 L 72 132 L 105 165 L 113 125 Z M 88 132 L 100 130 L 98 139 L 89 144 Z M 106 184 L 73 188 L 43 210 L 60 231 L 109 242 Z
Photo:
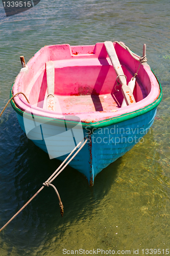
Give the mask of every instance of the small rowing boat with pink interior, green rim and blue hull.
M 147 63 L 123 42 L 41 48 L 19 72 L 11 101 L 21 129 L 50 159 L 69 163 L 93 185 L 95 176 L 150 130 L 162 98 Z

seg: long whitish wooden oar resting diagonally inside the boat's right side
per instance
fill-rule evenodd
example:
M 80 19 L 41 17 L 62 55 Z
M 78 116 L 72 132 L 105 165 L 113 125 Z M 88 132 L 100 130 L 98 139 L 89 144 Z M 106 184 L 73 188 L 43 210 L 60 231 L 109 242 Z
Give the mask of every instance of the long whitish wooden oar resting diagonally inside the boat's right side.
M 109 55 L 109 58 L 112 62 L 113 68 L 118 76 L 120 84 L 122 84 L 121 90 L 122 90 L 122 93 L 123 93 L 123 96 L 124 96 L 124 99 L 125 99 L 127 105 L 135 103 L 136 102 L 135 98 L 133 96 L 131 89 L 127 86 L 126 78 L 125 78 L 123 69 L 120 65 L 120 62 L 118 60 L 113 43 L 111 41 L 105 41 L 104 44 L 106 47 L 106 51 Z

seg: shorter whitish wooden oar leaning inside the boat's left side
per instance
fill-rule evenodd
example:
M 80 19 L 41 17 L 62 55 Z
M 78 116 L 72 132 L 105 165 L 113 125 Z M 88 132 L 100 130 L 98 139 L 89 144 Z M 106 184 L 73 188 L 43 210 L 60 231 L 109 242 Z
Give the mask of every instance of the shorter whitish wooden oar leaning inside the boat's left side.
M 47 82 L 47 99 L 46 99 L 46 108 L 47 110 L 56 111 L 56 101 L 54 98 L 54 74 L 55 67 L 52 60 L 46 62 L 46 82 Z

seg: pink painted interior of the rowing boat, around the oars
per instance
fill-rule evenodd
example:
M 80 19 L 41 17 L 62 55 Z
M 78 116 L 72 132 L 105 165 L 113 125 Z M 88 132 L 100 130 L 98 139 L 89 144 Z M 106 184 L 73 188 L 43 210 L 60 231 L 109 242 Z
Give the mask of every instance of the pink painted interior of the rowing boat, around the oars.
M 114 43 L 114 47 L 128 84 L 140 62 L 118 44 Z M 121 108 L 121 85 L 117 83 L 118 80 L 116 81 L 116 72 L 103 43 L 97 43 L 95 46 L 54 45 L 39 50 L 28 62 L 28 70 L 20 72 L 22 79 L 17 77 L 15 82 L 16 92 L 25 93 L 31 105 L 43 110 L 46 108 L 45 63 L 50 60 L 55 66 L 54 96 L 58 98 L 63 114 L 116 112 Z M 133 93 L 136 102 L 140 102 L 151 93 L 154 84 L 152 79 L 155 79 L 155 76 L 149 66 L 141 65 Z M 157 96 L 158 92 L 155 92 L 153 97 Z M 25 101 L 23 96 L 20 98 Z

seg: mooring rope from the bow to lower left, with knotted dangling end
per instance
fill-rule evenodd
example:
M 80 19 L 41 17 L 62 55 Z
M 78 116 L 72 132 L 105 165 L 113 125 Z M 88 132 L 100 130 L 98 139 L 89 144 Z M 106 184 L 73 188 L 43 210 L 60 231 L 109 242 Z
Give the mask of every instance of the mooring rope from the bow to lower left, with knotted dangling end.
M 34 196 L 32 198 L 30 198 L 30 200 L 25 204 L 23 205 L 20 210 L 18 210 L 16 212 L 16 214 L 0 229 L 0 232 L 19 214 L 19 212 L 21 210 L 23 210 L 39 193 L 40 191 L 45 187 L 45 186 L 52 186 L 55 191 L 56 191 L 56 194 L 59 198 L 59 205 L 60 205 L 60 212 L 61 212 L 61 216 L 63 217 L 63 213 L 64 213 L 64 210 L 63 210 L 63 204 L 61 202 L 61 199 L 60 199 L 60 195 L 57 191 L 57 188 L 51 184 L 51 182 L 62 172 L 62 170 L 68 165 L 68 163 L 79 153 L 79 151 L 82 149 L 82 147 L 86 144 L 87 142 L 87 139 L 84 141 L 84 143 L 81 145 L 81 147 L 79 148 L 79 150 L 68 160 L 68 162 L 63 166 L 63 168 L 60 170 L 60 172 L 58 172 L 58 170 L 61 168 L 61 166 L 66 162 L 66 160 L 72 155 L 72 153 L 74 153 L 74 151 L 76 150 L 76 148 L 82 143 L 82 141 L 79 142 L 79 144 L 74 148 L 74 150 L 71 151 L 71 153 L 66 157 L 66 159 L 60 164 L 60 166 L 57 168 L 57 170 L 55 170 L 55 172 L 51 175 L 50 178 L 47 179 L 47 181 L 45 181 L 43 183 L 43 186 L 37 191 L 37 193 L 34 194 Z M 58 173 L 57 173 L 58 172 Z M 57 173 L 57 175 L 53 178 L 53 176 Z

